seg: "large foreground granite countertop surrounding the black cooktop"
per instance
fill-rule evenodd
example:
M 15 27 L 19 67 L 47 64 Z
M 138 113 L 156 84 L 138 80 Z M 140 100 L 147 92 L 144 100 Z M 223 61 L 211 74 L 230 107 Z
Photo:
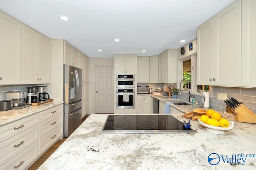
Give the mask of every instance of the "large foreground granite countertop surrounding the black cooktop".
M 172 114 L 184 121 L 181 114 Z M 234 128 L 224 135 L 206 131 L 191 121 L 198 133 L 180 134 L 101 134 L 108 115 L 92 114 L 40 166 L 41 170 L 144 170 L 144 169 L 236 169 L 256 168 L 256 158 L 238 160 L 236 154 L 256 154 L 256 124 L 235 121 Z M 230 117 L 229 120 L 233 118 Z M 208 156 L 220 155 L 220 162 L 211 165 Z M 212 154 L 211 158 L 216 157 Z M 225 163 L 222 160 L 222 157 Z M 236 161 L 241 161 L 237 164 Z M 231 162 L 230 162 L 231 161 Z M 243 165 L 242 165 L 243 164 Z

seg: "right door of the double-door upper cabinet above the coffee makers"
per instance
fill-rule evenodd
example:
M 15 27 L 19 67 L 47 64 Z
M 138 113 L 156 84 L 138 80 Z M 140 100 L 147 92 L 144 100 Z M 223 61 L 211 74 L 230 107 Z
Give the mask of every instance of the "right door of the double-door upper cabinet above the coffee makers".
M 51 40 L 39 34 L 38 83 L 51 83 Z

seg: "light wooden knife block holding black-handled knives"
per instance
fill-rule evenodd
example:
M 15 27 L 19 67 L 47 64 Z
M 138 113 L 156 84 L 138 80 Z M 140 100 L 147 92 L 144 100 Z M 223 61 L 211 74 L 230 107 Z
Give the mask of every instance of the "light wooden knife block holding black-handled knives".
M 239 122 L 256 123 L 256 114 L 243 104 L 234 111 L 234 119 Z

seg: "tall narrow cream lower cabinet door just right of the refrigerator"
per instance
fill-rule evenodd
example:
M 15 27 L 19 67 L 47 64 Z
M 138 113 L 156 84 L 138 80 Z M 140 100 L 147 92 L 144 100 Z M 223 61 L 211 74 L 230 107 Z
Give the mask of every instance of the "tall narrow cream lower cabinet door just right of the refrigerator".
M 82 118 L 89 112 L 89 83 L 82 83 Z

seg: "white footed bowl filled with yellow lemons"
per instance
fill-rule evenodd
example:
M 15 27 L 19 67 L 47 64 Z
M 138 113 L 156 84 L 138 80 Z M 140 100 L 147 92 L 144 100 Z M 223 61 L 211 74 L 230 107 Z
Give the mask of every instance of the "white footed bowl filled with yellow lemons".
M 206 127 L 206 131 L 218 135 L 224 135 L 225 131 L 233 129 L 234 127 L 233 121 L 222 118 L 220 113 L 212 109 L 207 110 L 206 115 L 202 115 L 198 118 L 198 122 Z

